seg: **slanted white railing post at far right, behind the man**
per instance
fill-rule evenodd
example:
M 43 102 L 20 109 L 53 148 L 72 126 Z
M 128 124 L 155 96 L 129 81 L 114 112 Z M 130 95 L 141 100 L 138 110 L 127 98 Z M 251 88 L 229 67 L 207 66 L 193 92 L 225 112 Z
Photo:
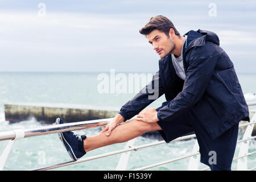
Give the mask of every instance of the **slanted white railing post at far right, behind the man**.
M 256 113 L 254 113 L 253 118 L 251 119 L 251 122 L 254 122 L 256 120 Z M 247 139 L 251 137 L 251 133 L 253 133 L 253 125 L 247 125 L 245 133 L 243 134 L 243 139 Z M 240 150 L 238 156 L 243 156 L 248 153 L 249 150 L 249 143 L 250 140 L 246 140 L 245 142 L 240 143 Z M 237 161 L 237 170 L 238 171 L 244 171 L 247 170 L 247 156 L 245 158 L 238 159 Z

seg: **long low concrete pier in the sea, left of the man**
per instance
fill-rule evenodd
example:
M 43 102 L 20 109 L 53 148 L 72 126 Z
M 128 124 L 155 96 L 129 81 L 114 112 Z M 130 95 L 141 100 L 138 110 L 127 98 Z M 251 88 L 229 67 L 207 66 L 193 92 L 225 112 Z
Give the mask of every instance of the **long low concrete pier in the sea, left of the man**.
M 44 123 L 54 123 L 56 118 L 62 118 L 64 122 L 78 122 L 113 118 L 118 113 L 114 110 L 5 104 L 5 120 L 9 122 L 26 121 L 32 117 Z

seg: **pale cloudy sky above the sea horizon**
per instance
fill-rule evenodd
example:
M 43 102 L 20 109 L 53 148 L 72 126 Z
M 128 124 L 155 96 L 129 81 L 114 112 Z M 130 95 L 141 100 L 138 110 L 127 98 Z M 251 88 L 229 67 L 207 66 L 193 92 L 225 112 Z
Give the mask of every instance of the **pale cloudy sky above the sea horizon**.
M 155 15 L 209 30 L 237 73 L 256 73 L 256 1 L 0 0 L 0 72 L 156 72 L 139 30 Z

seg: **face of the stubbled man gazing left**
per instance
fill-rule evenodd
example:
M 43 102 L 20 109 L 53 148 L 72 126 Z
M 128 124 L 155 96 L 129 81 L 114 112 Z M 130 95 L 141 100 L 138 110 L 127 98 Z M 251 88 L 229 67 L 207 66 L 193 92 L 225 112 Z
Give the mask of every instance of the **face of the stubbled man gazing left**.
M 176 48 L 174 41 L 159 30 L 152 31 L 146 37 L 160 58 L 166 57 Z

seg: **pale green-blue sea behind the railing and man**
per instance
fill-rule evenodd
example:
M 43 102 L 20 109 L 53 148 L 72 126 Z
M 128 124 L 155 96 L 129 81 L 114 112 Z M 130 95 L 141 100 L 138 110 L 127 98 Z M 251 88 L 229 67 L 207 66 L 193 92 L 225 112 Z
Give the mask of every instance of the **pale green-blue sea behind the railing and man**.
M 138 73 L 135 76 L 139 76 Z M 111 83 L 111 74 L 106 72 L 104 76 L 109 77 L 109 88 L 105 85 L 105 91 L 99 86 L 102 83 L 102 73 L 75 73 L 75 72 L 1 72 L 0 73 L 0 132 L 10 131 L 13 129 L 33 129 L 51 124 L 41 123 L 31 118 L 28 121 L 9 123 L 5 121 L 5 104 L 26 104 L 39 106 L 65 106 L 65 107 L 87 107 L 90 109 L 119 110 L 120 107 L 135 96 L 138 90 L 134 89 L 130 92 L 125 86 L 129 80 L 129 73 L 122 73 L 119 78 L 123 78 L 122 85 L 126 89 L 112 89 L 111 85 L 118 85 L 114 80 Z M 238 80 L 242 86 L 243 94 L 247 103 L 256 101 L 256 74 L 237 74 Z M 126 79 L 127 78 L 127 79 Z M 106 81 L 106 80 L 105 80 Z M 147 80 L 149 81 L 149 80 Z M 120 86 L 120 84 L 119 84 Z M 144 85 L 139 85 L 143 88 Z M 138 88 L 137 88 L 138 89 Z M 108 92 L 109 90 L 109 92 Z M 160 97 L 152 102 L 148 107 L 159 107 L 165 101 L 164 97 Z M 249 107 L 255 109 L 255 106 Z M 53 124 L 52 124 L 53 125 Z M 97 135 L 102 128 L 93 128 L 86 130 L 74 131 L 77 134 L 85 134 L 90 137 Z M 240 129 L 238 139 L 243 136 L 244 130 Z M 158 142 L 158 137 L 138 137 L 134 145 L 139 146 L 152 142 Z M 2 154 L 5 146 L 9 141 L 0 141 L 0 154 Z M 169 159 L 179 158 L 192 152 L 196 139 L 187 139 L 177 142 L 170 142 L 142 148 L 137 151 L 130 152 L 130 158 L 127 163 L 127 170 L 148 166 L 151 164 L 163 162 Z M 101 147 L 88 152 L 83 158 L 94 155 L 104 154 L 122 150 L 125 143 L 112 144 L 110 146 Z M 238 156 L 240 145 L 234 158 Z M 255 140 L 251 140 L 249 144 L 249 152 L 256 150 Z M 90 160 L 84 163 L 73 164 L 55 168 L 51 170 L 86 170 L 86 171 L 112 171 L 117 169 L 117 164 L 121 154 L 108 156 L 101 159 Z M 196 156 L 192 157 L 196 158 Z M 17 140 L 7 158 L 4 170 L 29 170 L 40 167 L 47 167 L 53 164 L 65 163 L 71 161 L 70 156 L 60 142 L 57 134 L 42 135 L 38 137 L 29 137 Z M 150 170 L 156 171 L 181 171 L 188 169 L 189 158 L 178 160 L 176 162 L 164 164 L 162 166 L 153 167 Z M 256 164 L 256 155 L 248 156 L 247 167 L 253 168 Z M 207 167 L 205 164 L 199 163 L 198 169 Z M 237 170 L 237 160 L 232 164 L 232 170 Z

